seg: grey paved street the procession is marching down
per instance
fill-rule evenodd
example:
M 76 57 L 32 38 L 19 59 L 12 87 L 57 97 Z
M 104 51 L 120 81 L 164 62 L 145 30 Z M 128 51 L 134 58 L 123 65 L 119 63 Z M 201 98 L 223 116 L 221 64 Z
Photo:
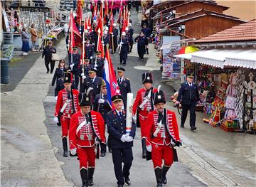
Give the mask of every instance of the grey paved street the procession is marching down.
M 132 11 L 134 36 L 140 21 Z M 66 58 L 65 39 L 57 51 Z M 132 84 L 134 97 L 142 87 L 142 73 L 153 70 L 154 87 L 162 86 L 166 93 L 166 107 L 171 107 L 172 87 L 161 82 L 156 50 L 150 46 L 142 63 L 137 46 L 129 54 L 125 76 Z M 81 186 L 79 161 L 63 157 L 61 129 L 53 122 L 53 74 L 46 74 L 41 53 L 30 53 L 23 60 L 10 64 L 11 83 L 1 85 L 1 186 Z M 114 68 L 119 66 L 119 54 L 112 55 Z M 55 65 L 56 67 L 56 65 Z M 175 84 L 179 84 L 175 82 Z M 43 104 L 43 105 L 42 105 Z M 250 134 L 223 132 L 220 128 L 203 124 L 205 114 L 197 113 L 196 132 L 180 129 L 183 146 L 178 148 L 179 162 L 168 173 L 166 186 L 255 186 L 255 142 Z M 153 164 L 142 159 L 140 129 L 134 139 L 134 161 L 131 186 L 155 186 Z M 94 186 L 116 186 L 112 155 L 96 161 Z

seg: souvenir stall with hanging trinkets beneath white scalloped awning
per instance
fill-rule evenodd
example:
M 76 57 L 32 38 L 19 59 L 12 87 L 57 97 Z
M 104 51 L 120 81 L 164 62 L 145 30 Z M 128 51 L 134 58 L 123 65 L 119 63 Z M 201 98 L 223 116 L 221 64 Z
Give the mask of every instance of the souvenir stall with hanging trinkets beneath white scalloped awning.
M 246 48 L 242 50 L 245 51 L 244 53 L 255 51 Z M 195 75 L 203 105 L 202 112 L 207 115 L 203 121 L 213 127 L 220 126 L 226 132 L 255 133 L 255 62 L 248 65 L 247 59 L 239 61 L 230 57 L 230 59 L 225 58 L 224 63 L 223 60 L 198 58 L 198 53 L 208 53 L 208 51 L 198 50 L 186 55 L 175 55 L 184 63 L 183 73 Z

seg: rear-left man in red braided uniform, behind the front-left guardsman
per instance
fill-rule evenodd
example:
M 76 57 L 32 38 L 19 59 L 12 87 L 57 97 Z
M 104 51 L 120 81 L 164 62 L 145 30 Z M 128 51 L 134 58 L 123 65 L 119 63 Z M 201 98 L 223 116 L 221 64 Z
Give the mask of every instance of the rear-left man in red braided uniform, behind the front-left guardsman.
M 68 127 L 70 125 L 70 119 L 75 112 L 80 109 L 78 105 L 78 90 L 71 88 L 73 75 L 70 72 L 65 72 L 63 75 L 64 89 L 58 92 L 58 99 L 55 106 L 55 122 L 60 118 L 62 141 L 63 141 L 63 156 L 68 156 Z

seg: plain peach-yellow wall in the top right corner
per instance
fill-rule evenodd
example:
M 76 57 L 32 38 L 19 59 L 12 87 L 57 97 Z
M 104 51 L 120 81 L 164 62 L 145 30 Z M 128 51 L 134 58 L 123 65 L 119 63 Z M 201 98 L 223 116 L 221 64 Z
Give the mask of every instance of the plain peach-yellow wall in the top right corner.
M 256 0 L 216 0 L 216 3 L 230 7 L 223 14 L 235 16 L 245 21 L 256 18 Z

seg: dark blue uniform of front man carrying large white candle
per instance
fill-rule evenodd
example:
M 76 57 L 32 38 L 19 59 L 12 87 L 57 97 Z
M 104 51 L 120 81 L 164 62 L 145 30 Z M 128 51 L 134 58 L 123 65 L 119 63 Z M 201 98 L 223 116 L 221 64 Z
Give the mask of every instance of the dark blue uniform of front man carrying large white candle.
M 129 169 L 132 166 L 132 146 L 133 141 L 122 142 L 121 137 L 126 127 L 126 110 L 123 109 L 119 115 L 117 110 L 112 110 L 107 114 L 107 129 L 111 138 L 112 160 L 114 163 L 114 173 L 117 178 L 117 184 L 123 185 L 124 178 L 129 177 Z M 132 131 L 129 136 L 135 137 L 136 126 L 132 122 Z M 122 168 L 122 162 L 124 167 Z

